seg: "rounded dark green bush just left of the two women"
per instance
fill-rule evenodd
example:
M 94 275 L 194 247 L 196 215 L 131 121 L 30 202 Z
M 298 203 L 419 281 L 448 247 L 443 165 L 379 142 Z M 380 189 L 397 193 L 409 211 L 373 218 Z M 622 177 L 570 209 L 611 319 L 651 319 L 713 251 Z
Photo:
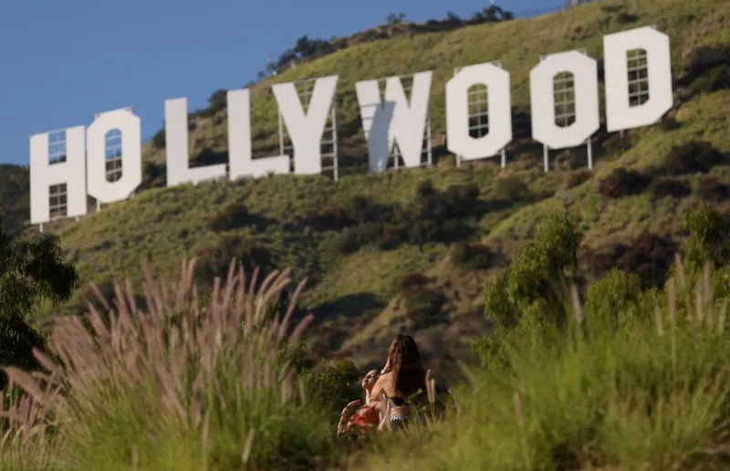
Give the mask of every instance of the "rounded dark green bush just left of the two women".
M 319 362 L 314 369 L 304 373 L 304 384 L 308 401 L 324 408 L 334 424 L 343 407 L 365 396 L 360 386 L 360 372 L 349 360 Z

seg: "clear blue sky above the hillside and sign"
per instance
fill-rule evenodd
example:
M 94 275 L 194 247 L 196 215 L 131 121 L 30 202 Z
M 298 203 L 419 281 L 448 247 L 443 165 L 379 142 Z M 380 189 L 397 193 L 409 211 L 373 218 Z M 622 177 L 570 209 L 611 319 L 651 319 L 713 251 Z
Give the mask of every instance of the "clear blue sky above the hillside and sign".
M 561 0 L 508 0 L 516 15 Z M 201 108 L 215 89 L 241 88 L 297 37 L 343 37 L 447 10 L 471 16 L 489 0 L 3 0 L 0 162 L 27 165 L 31 134 L 89 125 L 133 106 L 142 139 L 162 127 L 164 100 Z M 497 5 L 500 5 L 497 3 Z M 519 16 L 519 15 L 518 15 Z M 211 71 L 214 73 L 211 73 Z

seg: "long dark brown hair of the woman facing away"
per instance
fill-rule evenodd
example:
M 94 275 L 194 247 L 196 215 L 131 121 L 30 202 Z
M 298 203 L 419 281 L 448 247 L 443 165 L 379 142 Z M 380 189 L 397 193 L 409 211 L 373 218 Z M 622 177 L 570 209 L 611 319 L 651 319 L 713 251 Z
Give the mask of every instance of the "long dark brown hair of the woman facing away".
M 399 334 L 391 343 L 388 370 L 393 373 L 393 389 L 408 398 L 426 392 L 426 372 L 421 363 L 418 345 L 410 335 Z

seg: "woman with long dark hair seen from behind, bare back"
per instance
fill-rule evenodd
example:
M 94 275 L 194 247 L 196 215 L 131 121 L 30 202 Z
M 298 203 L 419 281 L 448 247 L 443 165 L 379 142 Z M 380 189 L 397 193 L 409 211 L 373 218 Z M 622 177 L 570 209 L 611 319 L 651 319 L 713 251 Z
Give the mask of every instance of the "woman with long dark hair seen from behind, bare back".
M 391 426 L 399 427 L 413 415 L 413 407 L 427 403 L 426 372 L 421 353 L 410 335 L 399 334 L 391 342 L 388 361 L 370 393 L 371 403 L 380 403 L 380 412 Z

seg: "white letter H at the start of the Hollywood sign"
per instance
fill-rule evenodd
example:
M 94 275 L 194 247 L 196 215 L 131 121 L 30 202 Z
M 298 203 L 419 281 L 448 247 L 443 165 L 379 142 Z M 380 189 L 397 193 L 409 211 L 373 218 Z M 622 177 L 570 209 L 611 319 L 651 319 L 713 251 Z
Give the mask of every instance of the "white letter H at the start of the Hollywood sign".
M 66 185 L 55 205 L 66 206 L 66 216 L 86 215 L 86 132 L 83 126 L 66 130 L 66 162 L 48 162 L 48 133 L 30 137 L 30 224 L 47 223 L 51 185 Z M 65 204 L 64 204 L 65 203 Z

